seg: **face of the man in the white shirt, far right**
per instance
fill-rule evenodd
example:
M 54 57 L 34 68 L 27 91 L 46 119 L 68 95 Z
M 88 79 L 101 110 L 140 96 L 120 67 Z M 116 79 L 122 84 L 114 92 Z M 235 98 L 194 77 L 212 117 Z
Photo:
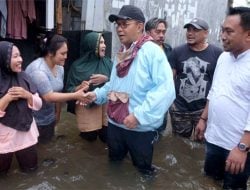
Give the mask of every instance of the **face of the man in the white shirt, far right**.
M 225 51 L 238 55 L 249 48 L 250 31 L 240 25 L 240 16 L 227 16 L 221 29 L 221 39 Z

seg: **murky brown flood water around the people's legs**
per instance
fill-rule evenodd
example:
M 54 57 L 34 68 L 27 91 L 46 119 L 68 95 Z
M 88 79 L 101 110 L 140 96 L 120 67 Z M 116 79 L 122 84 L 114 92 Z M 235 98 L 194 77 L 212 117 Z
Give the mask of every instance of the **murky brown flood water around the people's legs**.
M 99 139 L 81 139 L 74 115 L 63 110 L 56 136 L 38 145 L 39 168 L 21 173 L 13 160 L 0 190 L 217 190 L 220 183 L 203 175 L 204 145 L 172 136 L 167 130 L 155 144 L 152 176 L 141 175 L 129 159 L 108 161 L 108 150 Z

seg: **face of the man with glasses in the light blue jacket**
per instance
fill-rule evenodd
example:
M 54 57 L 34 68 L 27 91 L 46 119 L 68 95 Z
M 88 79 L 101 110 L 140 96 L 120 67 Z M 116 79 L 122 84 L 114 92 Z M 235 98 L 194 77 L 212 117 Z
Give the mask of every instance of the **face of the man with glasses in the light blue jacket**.
M 115 24 L 118 38 L 126 48 L 138 39 L 144 27 L 142 23 L 135 20 L 118 19 Z

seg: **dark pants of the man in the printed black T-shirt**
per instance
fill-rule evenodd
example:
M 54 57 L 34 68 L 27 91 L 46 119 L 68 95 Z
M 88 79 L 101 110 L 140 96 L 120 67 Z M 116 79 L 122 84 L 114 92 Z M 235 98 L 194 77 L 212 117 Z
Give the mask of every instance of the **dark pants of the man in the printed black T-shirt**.
M 172 132 L 182 137 L 191 137 L 200 119 L 202 110 L 193 112 L 170 111 Z

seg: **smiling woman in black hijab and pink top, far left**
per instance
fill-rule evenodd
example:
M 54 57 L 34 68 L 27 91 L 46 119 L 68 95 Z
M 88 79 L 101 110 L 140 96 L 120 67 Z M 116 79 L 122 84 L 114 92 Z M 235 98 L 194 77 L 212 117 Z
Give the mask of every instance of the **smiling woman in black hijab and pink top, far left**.
M 41 106 L 35 85 L 22 71 L 18 48 L 0 42 L 0 174 L 8 172 L 14 155 L 23 172 L 37 168 L 39 134 L 32 110 Z

